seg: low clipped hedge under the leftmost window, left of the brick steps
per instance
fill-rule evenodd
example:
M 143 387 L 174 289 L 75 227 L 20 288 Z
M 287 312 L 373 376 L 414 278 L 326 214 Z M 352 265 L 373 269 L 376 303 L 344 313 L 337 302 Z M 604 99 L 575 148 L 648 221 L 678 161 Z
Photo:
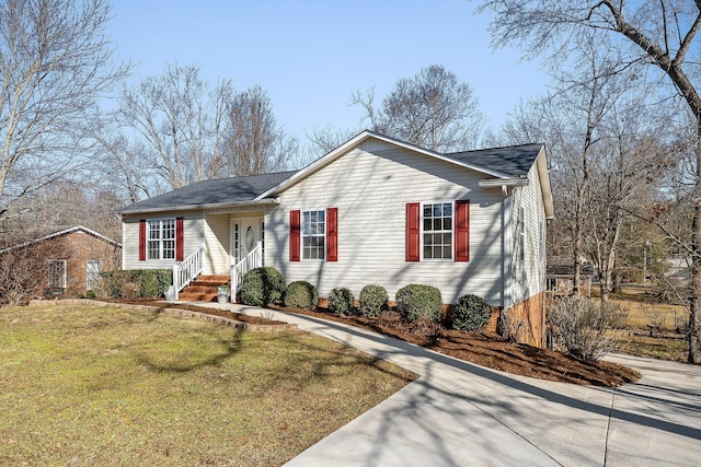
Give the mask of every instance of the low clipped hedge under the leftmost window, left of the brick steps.
M 170 269 L 127 269 L 105 271 L 100 276 L 101 291 L 114 299 L 157 299 L 164 296 L 173 284 Z

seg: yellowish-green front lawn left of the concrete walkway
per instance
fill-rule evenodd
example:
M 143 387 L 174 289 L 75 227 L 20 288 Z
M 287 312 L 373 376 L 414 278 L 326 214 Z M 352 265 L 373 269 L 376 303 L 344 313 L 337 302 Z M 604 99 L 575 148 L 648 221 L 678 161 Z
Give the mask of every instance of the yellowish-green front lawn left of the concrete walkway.
M 0 465 L 280 465 L 415 375 L 304 332 L 0 308 Z

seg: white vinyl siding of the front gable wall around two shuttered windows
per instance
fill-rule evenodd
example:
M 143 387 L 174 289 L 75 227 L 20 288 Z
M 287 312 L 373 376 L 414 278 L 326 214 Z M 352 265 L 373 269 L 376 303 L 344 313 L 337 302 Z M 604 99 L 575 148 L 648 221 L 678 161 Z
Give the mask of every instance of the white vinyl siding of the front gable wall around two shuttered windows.
M 394 300 L 410 283 L 437 287 L 445 303 L 475 293 L 499 304 L 499 190 L 484 190 L 487 176 L 424 154 L 368 140 L 281 192 L 266 215 L 265 264 L 288 282 L 307 280 L 327 296 L 349 288 L 357 296 L 369 283 Z M 470 199 L 470 261 L 406 262 L 406 203 Z M 338 261 L 289 261 L 289 211 L 338 208 Z

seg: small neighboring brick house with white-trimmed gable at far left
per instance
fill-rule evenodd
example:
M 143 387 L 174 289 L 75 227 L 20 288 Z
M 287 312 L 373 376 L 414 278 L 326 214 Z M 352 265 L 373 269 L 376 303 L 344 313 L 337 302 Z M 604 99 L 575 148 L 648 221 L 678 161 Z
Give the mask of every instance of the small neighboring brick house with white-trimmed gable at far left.
M 119 269 L 122 262 L 122 244 L 82 225 L 0 250 L 15 257 L 18 253 L 33 256 L 32 262 L 45 268 L 36 276 L 34 293 L 38 295 L 93 290 L 101 271 Z

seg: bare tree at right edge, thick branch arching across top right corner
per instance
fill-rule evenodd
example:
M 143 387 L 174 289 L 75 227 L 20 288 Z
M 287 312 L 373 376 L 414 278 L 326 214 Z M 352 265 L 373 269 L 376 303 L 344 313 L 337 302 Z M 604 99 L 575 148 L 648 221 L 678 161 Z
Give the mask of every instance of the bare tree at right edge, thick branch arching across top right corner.
M 612 39 L 620 50 L 619 69 L 648 67 L 657 81 L 665 77 L 670 94 L 679 96 L 694 118 L 694 190 L 701 189 L 701 94 L 698 91 L 701 4 L 690 0 L 487 0 L 482 9 L 496 13 L 491 31 L 496 45 L 518 43 L 528 54 L 548 52 L 551 63 L 566 63 L 581 45 L 583 32 Z M 607 44 L 608 45 L 608 44 Z M 660 90 L 662 92 L 662 90 Z M 701 196 L 694 196 L 691 220 L 691 281 L 689 362 L 699 359 L 699 299 L 701 297 Z

